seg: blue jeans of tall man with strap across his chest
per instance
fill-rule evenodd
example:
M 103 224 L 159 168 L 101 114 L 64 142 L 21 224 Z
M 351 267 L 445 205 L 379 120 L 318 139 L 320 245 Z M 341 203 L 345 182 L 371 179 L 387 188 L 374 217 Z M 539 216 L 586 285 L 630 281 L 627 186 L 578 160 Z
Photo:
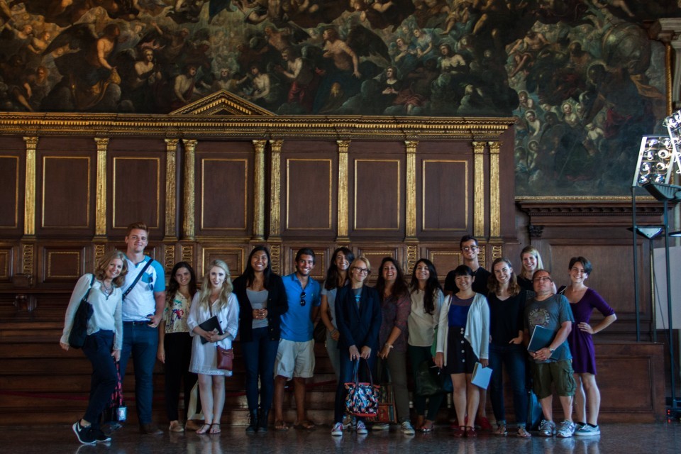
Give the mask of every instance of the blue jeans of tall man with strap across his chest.
M 135 366 L 135 404 L 140 424 L 151 422 L 151 402 L 154 397 L 154 366 L 158 349 L 158 328 L 146 322 L 123 322 L 121 350 L 121 382 L 126 374 L 130 355 Z

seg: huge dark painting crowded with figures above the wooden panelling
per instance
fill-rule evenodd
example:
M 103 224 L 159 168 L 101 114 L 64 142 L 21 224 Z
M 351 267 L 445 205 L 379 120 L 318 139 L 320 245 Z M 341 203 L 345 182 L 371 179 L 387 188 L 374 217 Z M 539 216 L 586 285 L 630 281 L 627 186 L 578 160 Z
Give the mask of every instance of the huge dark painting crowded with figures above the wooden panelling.
M 511 116 L 516 194 L 628 191 L 677 1 L 0 0 L 0 111 Z

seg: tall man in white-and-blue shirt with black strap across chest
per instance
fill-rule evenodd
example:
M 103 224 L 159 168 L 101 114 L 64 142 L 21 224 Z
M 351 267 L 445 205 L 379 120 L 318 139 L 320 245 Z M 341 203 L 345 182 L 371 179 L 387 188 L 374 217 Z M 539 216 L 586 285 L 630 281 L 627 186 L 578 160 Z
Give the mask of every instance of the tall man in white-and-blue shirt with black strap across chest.
M 123 350 L 121 380 L 130 355 L 135 365 L 135 404 L 140 431 L 150 435 L 163 433 L 151 422 L 154 394 L 153 372 L 158 348 L 158 323 L 165 306 L 165 271 L 162 265 L 144 255 L 149 242 L 145 223 L 133 223 L 126 234 L 128 274 L 123 286 Z M 139 279 L 138 279 L 139 277 Z

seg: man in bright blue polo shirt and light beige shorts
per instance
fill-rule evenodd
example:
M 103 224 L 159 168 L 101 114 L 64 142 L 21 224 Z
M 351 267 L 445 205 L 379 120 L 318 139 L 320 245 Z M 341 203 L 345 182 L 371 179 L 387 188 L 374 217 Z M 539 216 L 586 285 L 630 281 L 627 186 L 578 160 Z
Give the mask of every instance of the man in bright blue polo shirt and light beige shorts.
M 312 321 L 319 314 L 321 287 L 310 277 L 314 268 L 314 250 L 302 248 L 296 254 L 296 271 L 284 276 L 289 310 L 282 315 L 282 336 L 275 359 L 275 429 L 288 430 L 284 421 L 284 386 L 293 379 L 296 399 L 295 428 L 312 429 L 314 423 L 305 411 L 305 379 L 314 375 L 314 341 Z

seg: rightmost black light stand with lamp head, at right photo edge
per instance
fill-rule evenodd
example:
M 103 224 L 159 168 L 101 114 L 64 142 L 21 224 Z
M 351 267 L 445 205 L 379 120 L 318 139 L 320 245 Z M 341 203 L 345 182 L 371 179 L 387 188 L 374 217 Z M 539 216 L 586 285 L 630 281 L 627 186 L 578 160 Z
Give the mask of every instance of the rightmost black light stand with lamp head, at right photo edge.
M 667 316 L 669 329 L 669 360 L 671 366 L 671 385 L 672 385 L 672 402 L 671 408 L 668 411 L 668 416 L 677 416 L 681 414 L 681 406 L 676 399 L 676 380 L 675 380 L 675 361 L 674 361 L 674 338 L 672 334 L 672 282 L 670 273 L 669 260 L 669 204 L 678 204 L 681 201 L 681 186 L 675 184 L 663 183 L 646 183 L 643 188 L 655 197 L 656 200 L 662 201 L 664 206 L 664 230 L 665 230 L 665 269 L 667 273 Z

